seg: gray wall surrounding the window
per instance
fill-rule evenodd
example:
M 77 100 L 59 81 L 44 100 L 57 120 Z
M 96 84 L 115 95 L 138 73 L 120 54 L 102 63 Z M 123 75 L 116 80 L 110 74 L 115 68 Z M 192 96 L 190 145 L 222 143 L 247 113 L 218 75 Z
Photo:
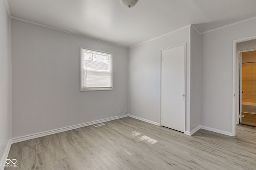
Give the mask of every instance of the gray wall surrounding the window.
M 80 47 L 113 53 L 113 90 L 80 92 Z M 123 47 L 12 20 L 13 137 L 118 116 L 118 108 L 128 108 L 127 53 Z

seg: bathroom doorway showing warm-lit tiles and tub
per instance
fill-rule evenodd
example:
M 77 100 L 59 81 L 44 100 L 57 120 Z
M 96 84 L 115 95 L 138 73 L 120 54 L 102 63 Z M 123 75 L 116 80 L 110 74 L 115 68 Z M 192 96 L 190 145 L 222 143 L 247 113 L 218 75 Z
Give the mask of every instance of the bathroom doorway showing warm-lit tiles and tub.
M 256 50 L 243 51 L 240 57 L 239 123 L 256 127 Z

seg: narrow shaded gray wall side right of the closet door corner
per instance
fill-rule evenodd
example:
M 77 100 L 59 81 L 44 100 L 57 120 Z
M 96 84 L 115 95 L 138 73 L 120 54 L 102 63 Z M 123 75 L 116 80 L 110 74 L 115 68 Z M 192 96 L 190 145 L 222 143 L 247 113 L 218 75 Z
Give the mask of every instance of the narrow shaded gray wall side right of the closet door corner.
M 200 81 L 201 81 L 201 35 L 192 27 L 190 30 L 190 131 L 201 125 L 200 122 Z

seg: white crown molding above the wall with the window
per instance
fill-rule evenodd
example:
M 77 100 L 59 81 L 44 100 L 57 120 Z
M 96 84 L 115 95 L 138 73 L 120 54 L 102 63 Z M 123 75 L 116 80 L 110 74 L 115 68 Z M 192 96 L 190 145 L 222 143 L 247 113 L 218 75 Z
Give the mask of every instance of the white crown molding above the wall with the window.
M 48 26 L 48 25 L 44 25 L 44 24 L 42 24 L 42 23 L 37 23 L 37 22 L 33 22 L 33 21 L 29 21 L 29 20 L 22 19 L 22 18 L 14 17 L 14 16 L 11 16 L 10 18 L 12 18 L 12 19 L 14 19 L 14 20 L 19 20 L 19 21 L 24 21 L 24 22 L 32 23 L 32 24 L 39 25 L 39 26 L 42 26 L 42 27 L 46 27 L 46 28 L 50 28 L 50 29 L 55 29 L 55 30 L 57 30 L 57 31 L 62 31 L 62 32 L 65 32 L 65 33 L 70 33 L 70 34 L 72 34 L 72 35 L 77 35 L 77 36 L 79 36 L 79 37 L 84 37 L 84 38 L 92 39 L 92 40 L 95 40 L 95 41 L 100 41 L 100 42 L 102 42 L 102 43 L 107 43 L 107 44 L 111 44 L 111 45 L 116 45 L 116 46 L 118 46 L 118 47 L 123 47 L 123 48 L 128 49 L 128 47 L 125 47 L 125 46 L 122 46 L 122 45 L 110 43 L 110 42 L 108 42 L 108 41 L 103 41 L 103 40 L 96 39 L 96 38 L 92 38 L 92 37 L 87 37 L 87 36 L 84 36 L 84 35 L 81 35 L 81 34 L 73 33 L 73 32 L 70 32 L 70 31 L 66 31 L 66 30 L 64 30 L 64 29 L 59 29 L 59 28 L 56 28 L 56 27 L 51 27 L 51 26 Z

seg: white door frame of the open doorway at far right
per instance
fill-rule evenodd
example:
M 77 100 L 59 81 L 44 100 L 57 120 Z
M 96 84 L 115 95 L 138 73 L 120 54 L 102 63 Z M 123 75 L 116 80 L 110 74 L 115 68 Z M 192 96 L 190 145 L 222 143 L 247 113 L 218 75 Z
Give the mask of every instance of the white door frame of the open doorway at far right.
M 239 112 L 239 53 L 236 51 L 236 44 L 253 39 L 256 39 L 256 36 L 233 41 L 232 136 L 236 136 L 236 117 Z

